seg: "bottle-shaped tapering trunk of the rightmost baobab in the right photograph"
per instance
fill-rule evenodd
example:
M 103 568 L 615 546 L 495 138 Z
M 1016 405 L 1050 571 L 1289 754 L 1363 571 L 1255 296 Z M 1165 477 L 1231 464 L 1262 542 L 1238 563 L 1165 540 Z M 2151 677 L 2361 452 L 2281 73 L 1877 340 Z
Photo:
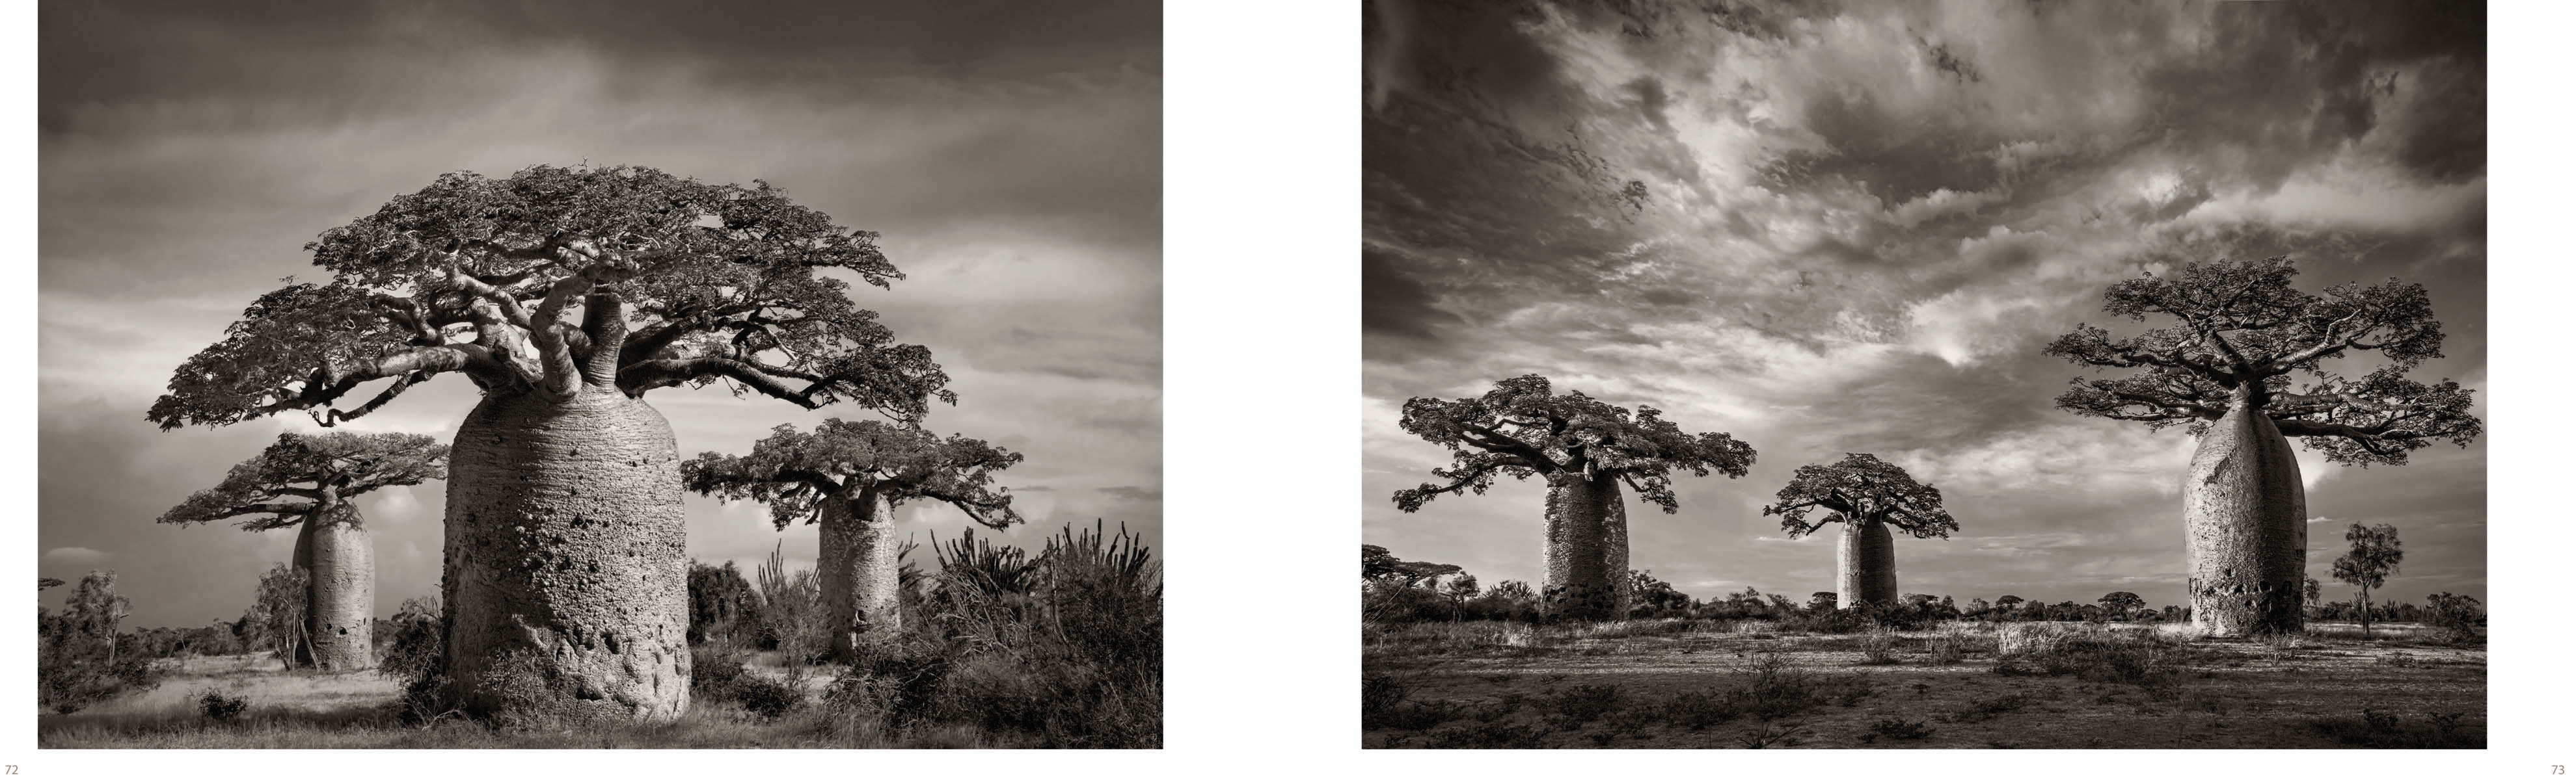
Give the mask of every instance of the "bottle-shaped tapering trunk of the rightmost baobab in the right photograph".
M 2192 626 L 2218 636 L 2298 631 L 2308 569 L 2308 494 L 2298 456 L 2251 399 L 2239 396 L 2192 453 L 2182 487 Z

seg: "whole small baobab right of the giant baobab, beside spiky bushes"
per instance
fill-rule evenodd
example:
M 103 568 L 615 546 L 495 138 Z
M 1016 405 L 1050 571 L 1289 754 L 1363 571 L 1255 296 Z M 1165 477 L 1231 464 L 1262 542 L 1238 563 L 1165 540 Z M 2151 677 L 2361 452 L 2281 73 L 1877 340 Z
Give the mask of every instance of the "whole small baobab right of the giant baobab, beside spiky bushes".
M 943 440 L 912 425 L 824 420 L 814 432 L 781 425 L 750 456 L 703 453 L 680 463 L 680 474 L 693 492 L 770 505 L 778 530 L 822 525 L 824 620 L 832 654 L 850 659 L 902 628 L 894 510 L 938 502 L 987 528 L 1010 528 L 1020 512 L 992 476 L 1012 463 L 1020 453 L 963 435 Z

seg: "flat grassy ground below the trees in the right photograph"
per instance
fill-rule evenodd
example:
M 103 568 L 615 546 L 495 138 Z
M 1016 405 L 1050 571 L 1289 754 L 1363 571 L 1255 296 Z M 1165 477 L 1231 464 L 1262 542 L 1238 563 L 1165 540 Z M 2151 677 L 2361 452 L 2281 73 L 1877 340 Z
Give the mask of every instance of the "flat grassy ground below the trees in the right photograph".
M 2424 626 L 1417 623 L 1363 651 L 1365 747 L 2486 747 L 2486 649 Z

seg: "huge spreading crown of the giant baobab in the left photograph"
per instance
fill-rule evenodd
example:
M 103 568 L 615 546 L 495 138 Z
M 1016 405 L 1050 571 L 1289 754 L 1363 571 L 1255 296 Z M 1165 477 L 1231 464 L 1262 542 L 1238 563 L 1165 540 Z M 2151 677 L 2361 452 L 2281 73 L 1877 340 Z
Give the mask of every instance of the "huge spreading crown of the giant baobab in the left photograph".
M 487 394 L 564 402 L 726 381 L 814 409 L 920 417 L 956 402 L 920 345 L 896 345 L 837 270 L 902 278 L 873 232 L 755 180 L 652 167 L 440 175 L 304 250 L 330 283 L 286 283 L 188 358 L 152 422 L 232 425 L 291 409 L 335 425 L 412 384 L 464 373 Z M 358 386 L 389 381 L 350 407 Z

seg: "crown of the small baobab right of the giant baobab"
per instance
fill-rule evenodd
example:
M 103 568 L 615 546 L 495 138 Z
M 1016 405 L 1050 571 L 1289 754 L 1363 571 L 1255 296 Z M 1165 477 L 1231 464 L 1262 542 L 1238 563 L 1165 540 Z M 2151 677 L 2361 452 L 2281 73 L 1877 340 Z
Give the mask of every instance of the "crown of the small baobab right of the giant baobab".
M 987 528 L 1010 528 L 1020 512 L 994 471 L 1020 463 L 1020 453 L 976 438 L 938 438 L 912 425 L 878 420 L 824 420 L 814 432 L 773 427 L 750 456 L 701 453 L 680 463 L 688 489 L 719 499 L 770 505 L 781 530 L 822 517 L 822 502 L 873 489 L 889 507 L 945 502 Z

